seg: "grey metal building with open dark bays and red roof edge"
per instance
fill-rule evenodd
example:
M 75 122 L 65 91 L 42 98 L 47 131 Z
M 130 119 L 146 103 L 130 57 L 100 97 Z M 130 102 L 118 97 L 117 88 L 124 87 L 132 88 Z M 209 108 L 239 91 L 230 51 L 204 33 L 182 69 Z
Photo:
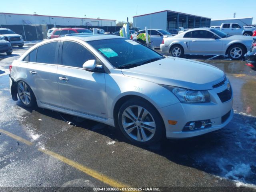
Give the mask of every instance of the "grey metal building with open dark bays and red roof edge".
M 134 27 L 158 28 L 158 29 L 176 29 L 210 27 L 211 19 L 186 13 L 180 13 L 170 10 L 154 12 L 133 17 Z

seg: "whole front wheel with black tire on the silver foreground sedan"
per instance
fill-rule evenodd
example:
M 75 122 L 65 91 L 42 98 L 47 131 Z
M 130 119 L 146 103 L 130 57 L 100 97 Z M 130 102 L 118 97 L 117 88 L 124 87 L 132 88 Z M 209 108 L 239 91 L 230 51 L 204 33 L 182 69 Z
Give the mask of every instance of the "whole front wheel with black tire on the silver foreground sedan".
M 118 112 L 118 125 L 134 144 L 151 145 L 164 136 L 164 123 L 152 104 L 138 99 L 128 100 Z

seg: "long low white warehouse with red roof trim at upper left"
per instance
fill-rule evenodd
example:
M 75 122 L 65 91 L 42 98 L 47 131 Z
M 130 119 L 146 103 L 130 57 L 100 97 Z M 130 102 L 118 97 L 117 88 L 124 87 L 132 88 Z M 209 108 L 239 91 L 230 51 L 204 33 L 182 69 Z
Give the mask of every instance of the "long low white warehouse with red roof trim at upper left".
M 116 26 L 116 20 L 0 13 L 0 25 Z M 1 26 L 0 26 L 1 27 Z

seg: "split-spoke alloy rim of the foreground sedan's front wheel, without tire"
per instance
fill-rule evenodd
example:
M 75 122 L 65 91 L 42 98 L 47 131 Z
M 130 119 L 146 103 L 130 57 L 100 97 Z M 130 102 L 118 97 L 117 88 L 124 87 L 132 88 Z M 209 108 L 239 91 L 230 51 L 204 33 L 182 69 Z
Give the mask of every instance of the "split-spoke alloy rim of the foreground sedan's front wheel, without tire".
M 124 131 L 136 141 L 150 140 L 156 132 L 156 122 L 148 110 L 141 106 L 129 106 L 122 113 Z

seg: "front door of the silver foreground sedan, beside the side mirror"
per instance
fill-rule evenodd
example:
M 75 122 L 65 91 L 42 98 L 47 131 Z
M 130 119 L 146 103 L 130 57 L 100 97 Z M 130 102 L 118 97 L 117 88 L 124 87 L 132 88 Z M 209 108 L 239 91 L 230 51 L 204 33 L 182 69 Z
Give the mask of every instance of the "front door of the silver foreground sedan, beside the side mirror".
M 57 74 L 63 108 L 106 118 L 105 74 L 82 68 L 87 60 L 100 61 L 78 42 L 63 41 L 61 46 Z

